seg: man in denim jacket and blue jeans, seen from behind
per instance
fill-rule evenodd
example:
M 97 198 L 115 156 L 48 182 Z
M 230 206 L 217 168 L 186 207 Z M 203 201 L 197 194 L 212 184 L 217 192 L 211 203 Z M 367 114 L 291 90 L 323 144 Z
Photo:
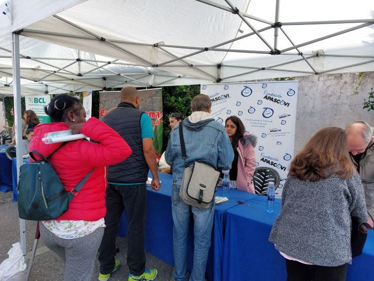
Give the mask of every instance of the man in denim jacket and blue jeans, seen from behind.
M 229 170 L 234 159 L 234 151 L 224 127 L 210 114 L 212 102 L 206 95 L 197 95 L 191 102 L 192 114 L 183 121 L 186 143 L 187 165 L 194 161 L 203 162 L 218 170 Z M 194 255 L 190 281 L 204 281 L 208 250 L 214 217 L 214 206 L 198 208 L 187 205 L 179 197 L 179 189 L 185 171 L 182 158 L 178 125 L 170 135 L 165 152 L 166 162 L 172 167 L 172 213 L 174 221 L 173 248 L 175 281 L 188 281 L 187 234 L 190 215 L 193 215 Z

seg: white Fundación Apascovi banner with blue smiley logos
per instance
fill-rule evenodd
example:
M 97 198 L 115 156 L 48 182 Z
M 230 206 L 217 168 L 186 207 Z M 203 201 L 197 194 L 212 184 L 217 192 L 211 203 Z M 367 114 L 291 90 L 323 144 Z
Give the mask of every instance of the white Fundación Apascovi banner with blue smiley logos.
M 219 123 L 238 116 L 246 132 L 257 136 L 255 191 L 266 194 L 275 182 L 281 197 L 294 153 L 298 81 L 201 85 L 212 101 L 212 115 Z

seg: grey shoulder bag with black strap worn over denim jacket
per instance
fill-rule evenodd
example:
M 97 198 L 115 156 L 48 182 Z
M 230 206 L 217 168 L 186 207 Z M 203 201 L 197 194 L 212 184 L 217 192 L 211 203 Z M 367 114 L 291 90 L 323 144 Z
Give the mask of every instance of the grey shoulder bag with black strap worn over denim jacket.
M 185 172 L 183 173 L 179 196 L 188 205 L 207 209 L 214 199 L 220 172 L 212 166 L 196 161 L 192 166 L 187 166 L 183 122 L 179 123 L 179 137 L 182 158 L 185 161 Z

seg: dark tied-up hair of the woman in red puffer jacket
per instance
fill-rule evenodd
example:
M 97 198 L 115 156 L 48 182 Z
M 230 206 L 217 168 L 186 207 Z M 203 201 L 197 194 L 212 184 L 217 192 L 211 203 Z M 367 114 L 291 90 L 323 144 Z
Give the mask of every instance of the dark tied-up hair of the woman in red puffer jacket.
M 79 115 L 81 108 L 82 105 L 77 98 L 63 94 L 54 97 L 44 107 L 44 111 L 51 117 L 51 122 L 64 122 L 67 112 L 73 110 L 76 115 Z

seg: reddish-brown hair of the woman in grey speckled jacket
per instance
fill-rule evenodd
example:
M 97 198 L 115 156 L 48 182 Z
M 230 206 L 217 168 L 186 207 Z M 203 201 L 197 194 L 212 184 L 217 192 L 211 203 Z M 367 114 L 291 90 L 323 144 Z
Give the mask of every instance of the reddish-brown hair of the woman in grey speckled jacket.
M 336 174 L 345 179 L 355 169 L 346 148 L 345 131 L 337 127 L 319 130 L 291 162 L 288 176 L 318 181 Z

